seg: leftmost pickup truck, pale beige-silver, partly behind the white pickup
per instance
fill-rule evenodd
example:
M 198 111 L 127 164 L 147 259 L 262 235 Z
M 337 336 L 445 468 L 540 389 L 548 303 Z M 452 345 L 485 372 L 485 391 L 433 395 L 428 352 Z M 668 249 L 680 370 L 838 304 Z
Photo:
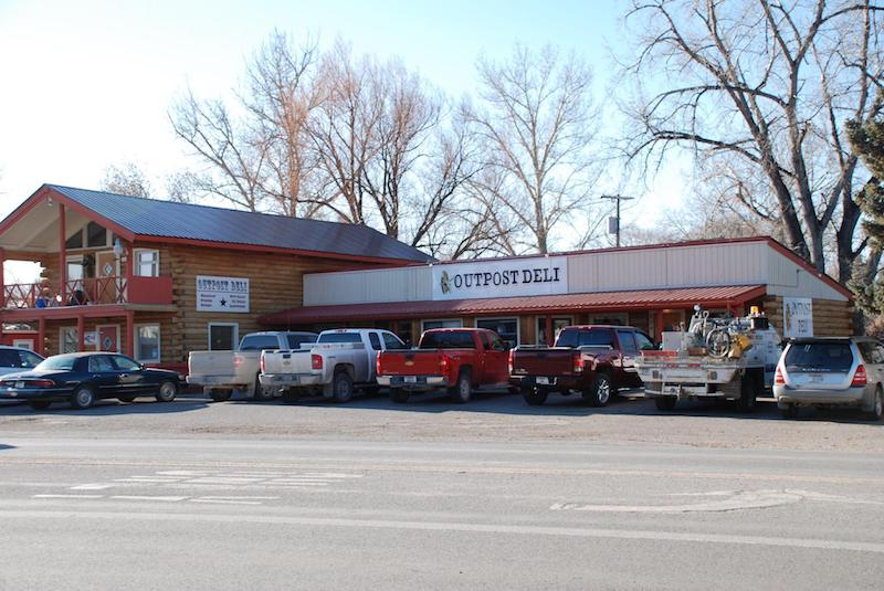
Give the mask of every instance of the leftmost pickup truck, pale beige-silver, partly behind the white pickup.
M 316 338 L 316 333 L 250 333 L 235 351 L 191 351 L 187 383 L 201 386 L 215 402 L 229 400 L 234 390 L 243 390 L 259 400 L 271 398 L 273 393 L 261 388 L 257 380 L 261 351 L 295 349 L 304 342 L 315 342 Z

